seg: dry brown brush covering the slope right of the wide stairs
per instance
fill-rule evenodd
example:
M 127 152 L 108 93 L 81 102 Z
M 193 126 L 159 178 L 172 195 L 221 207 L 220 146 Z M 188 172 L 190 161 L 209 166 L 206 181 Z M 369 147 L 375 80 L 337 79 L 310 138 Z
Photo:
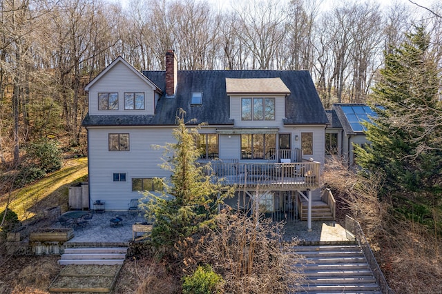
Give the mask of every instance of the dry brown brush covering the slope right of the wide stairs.
M 382 175 L 361 177 L 340 161 L 328 162 L 325 182 L 332 188 L 340 217 L 361 223 L 378 264 L 395 293 L 442 293 L 442 251 L 437 233 L 396 219 L 391 199 L 378 197 Z

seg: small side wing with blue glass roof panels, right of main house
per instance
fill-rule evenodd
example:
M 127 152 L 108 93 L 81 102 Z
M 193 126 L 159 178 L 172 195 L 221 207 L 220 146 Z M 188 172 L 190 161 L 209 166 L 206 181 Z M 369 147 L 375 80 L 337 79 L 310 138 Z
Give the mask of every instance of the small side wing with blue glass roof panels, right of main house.
M 354 145 L 365 146 L 370 142 L 365 137 L 363 121 L 377 117 L 376 112 L 367 104 L 333 104 L 326 110 L 329 126 L 325 130 L 325 156 L 337 156 L 348 166 L 354 166 Z

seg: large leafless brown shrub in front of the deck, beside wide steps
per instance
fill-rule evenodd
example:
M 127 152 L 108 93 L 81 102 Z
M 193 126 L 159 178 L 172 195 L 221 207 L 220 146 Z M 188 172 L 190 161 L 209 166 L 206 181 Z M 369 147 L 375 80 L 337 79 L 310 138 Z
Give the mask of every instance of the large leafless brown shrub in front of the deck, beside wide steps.
M 288 293 L 289 284 L 302 280 L 300 273 L 287 271 L 296 256 L 285 253 L 293 244 L 280 243 L 282 223 L 229 212 L 216 223 L 198 239 L 179 244 L 187 275 L 198 264 L 210 264 L 224 279 L 224 293 Z

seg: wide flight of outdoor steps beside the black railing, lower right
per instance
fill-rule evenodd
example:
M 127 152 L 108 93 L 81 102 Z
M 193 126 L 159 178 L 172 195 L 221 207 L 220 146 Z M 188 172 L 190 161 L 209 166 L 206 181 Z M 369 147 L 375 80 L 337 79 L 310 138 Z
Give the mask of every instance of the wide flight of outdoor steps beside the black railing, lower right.
M 361 248 L 358 245 L 296 246 L 293 252 L 305 257 L 294 264 L 305 275 L 290 293 L 376 293 L 376 284 Z

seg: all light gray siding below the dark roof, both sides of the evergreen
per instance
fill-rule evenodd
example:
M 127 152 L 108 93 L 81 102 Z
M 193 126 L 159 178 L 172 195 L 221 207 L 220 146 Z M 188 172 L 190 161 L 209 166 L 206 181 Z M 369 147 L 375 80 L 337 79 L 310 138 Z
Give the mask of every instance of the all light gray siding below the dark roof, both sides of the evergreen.
M 108 210 L 125 210 L 132 198 L 142 194 L 132 191 L 132 179 L 144 177 L 169 177 L 170 173 L 160 168 L 164 157 L 163 150 L 155 150 L 154 145 L 164 146 L 166 142 L 175 142 L 172 127 L 140 128 L 88 128 L 89 132 L 89 182 L 90 203 L 97 199 L 106 203 Z M 283 128 L 281 133 L 291 133 L 294 148 L 300 147 L 300 140 L 295 135 L 302 132 L 314 133 L 314 158 L 323 163 L 325 132 L 321 126 L 303 126 Z M 129 151 L 109 151 L 109 133 L 128 133 Z M 215 133 L 215 128 L 205 128 L 200 133 Z M 240 158 L 240 135 L 220 135 L 220 158 Z M 308 158 L 307 158 L 308 159 Z M 113 182 L 113 173 L 126 173 L 126 182 Z M 320 191 L 312 191 L 314 197 Z

